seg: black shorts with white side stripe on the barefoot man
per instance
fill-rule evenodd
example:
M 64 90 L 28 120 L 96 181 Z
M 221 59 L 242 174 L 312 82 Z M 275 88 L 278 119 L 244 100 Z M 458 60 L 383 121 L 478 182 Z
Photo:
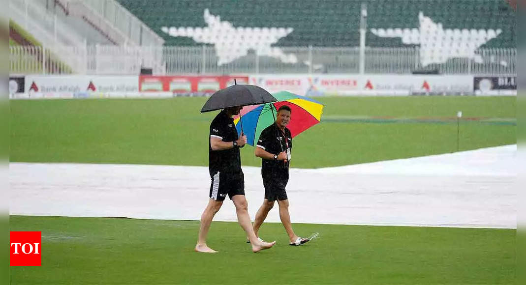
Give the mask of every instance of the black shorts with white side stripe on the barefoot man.
M 230 200 L 235 195 L 245 195 L 245 175 L 240 173 L 217 172 L 211 177 L 210 184 L 211 199 L 224 201 L 227 194 Z

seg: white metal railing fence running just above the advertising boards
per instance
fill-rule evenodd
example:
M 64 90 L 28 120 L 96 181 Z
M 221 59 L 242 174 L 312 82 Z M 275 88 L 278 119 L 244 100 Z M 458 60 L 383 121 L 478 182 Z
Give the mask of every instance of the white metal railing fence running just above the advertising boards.
M 283 47 L 272 48 L 265 56 L 248 50 L 246 55 L 225 60 L 225 52 L 213 46 L 192 47 L 65 47 L 68 58 L 42 57 L 40 47 L 10 47 L 11 73 L 78 73 L 137 75 L 151 68 L 157 75 L 235 73 L 359 73 L 359 48 Z M 279 55 L 279 56 L 272 56 Z M 422 66 L 419 47 L 370 48 L 365 50 L 365 73 L 510 75 L 516 74 L 517 50 L 478 49 L 473 58 L 449 58 Z M 221 62 L 221 64 L 218 64 Z M 56 68 L 55 66 L 64 66 Z M 43 68 L 45 67 L 45 68 Z M 66 68 L 67 67 L 67 68 Z

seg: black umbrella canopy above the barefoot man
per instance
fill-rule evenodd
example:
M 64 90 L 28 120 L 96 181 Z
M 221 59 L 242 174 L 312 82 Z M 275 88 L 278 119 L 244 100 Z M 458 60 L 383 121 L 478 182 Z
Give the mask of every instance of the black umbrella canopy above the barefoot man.
M 221 89 L 206 101 L 201 113 L 225 109 L 228 107 L 246 106 L 275 102 L 276 98 L 265 89 L 255 85 L 232 85 Z

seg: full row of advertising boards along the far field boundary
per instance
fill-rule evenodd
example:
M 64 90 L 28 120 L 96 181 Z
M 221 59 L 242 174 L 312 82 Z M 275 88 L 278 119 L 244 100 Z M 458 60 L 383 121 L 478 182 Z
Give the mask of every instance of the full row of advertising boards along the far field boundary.
M 516 96 L 517 76 L 473 75 L 27 75 L 9 78 L 11 99 L 209 96 L 234 84 L 302 96 Z

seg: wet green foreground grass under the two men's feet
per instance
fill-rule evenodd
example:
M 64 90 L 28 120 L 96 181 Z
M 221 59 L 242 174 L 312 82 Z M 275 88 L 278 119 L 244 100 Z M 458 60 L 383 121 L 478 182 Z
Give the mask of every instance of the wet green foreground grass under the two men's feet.
M 237 223 L 214 222 L 194 252 L 197 221 L 10 218 L 12 231 L 42 231 L 42 266 L 11 267 L 12 284 L 512 284 L 515 230 L 295 224 L 320 237 L 252 254 Z

